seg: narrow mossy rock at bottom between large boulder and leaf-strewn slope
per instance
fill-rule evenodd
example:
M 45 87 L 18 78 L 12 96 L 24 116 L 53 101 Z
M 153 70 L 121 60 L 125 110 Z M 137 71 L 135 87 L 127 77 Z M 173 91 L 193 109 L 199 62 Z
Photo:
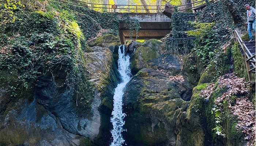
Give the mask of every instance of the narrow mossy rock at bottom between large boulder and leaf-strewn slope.
M 194 90 L 189 105 L 184 105 L 181 112 L 177 115 L 177 145 L 204 146 L 205 136 L 202 126 L 201 111 L 202 100 L 199 96 L 195 97 Z

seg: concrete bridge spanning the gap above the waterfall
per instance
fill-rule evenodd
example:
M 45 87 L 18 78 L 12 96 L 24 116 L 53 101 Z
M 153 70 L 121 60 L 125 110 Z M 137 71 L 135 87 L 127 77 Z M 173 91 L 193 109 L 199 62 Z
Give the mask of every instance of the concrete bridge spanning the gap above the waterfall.
M 162 13 L 117 13 L 117 15 L 119 18 L 129 15 L 130 19 L 139 20 L 141 28 L 137 39 L 161 39 L 171 31 L 171 19 Z M 130 30 L 124 27 L 124 22 L 121 22 L 119 27 L 121 44 L 125 44 L 126 39 L 136 38 L 136 32 L 129 34 Z

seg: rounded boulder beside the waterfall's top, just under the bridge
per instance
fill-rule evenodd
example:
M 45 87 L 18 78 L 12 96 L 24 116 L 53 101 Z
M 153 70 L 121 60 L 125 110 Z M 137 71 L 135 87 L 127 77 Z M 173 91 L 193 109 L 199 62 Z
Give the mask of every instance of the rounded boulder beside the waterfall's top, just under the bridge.
M 161 42 L 150 39 L 143 43 L 136 43 L 135 51 L 131 55 L 132 73 L 136 74 L 140 69 L 151 68 L 166 70 L 177 75 L 181 71 L 180 60 L 174 55 L 167 54 L 163 50 Z

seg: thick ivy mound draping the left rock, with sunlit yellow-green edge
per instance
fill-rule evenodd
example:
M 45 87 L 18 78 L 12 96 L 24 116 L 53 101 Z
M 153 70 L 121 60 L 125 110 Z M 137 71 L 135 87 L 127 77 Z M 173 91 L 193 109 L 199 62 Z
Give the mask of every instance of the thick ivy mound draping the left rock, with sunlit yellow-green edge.
M 24 15 L 23 21 L 8 24 L 22 31 L 11 34 L 5 44 L 0 44 L 4 47 L 0 53 L 1 83 L 7 92 L 11 97 L 19 97 L 22 92 L 33 89 L 43 76 L 52 78 L 57 88 L 75 89 L 81 111 L 90 108 L 93 87 L 86 82 L 84 65 L 79 59 L 83 54 L 80 44 L 83 33 L 76 21 L 69 15 L 59 17 L 59 13 L 52 12 Z M 80 95 L 82 93 L 88 96 Z

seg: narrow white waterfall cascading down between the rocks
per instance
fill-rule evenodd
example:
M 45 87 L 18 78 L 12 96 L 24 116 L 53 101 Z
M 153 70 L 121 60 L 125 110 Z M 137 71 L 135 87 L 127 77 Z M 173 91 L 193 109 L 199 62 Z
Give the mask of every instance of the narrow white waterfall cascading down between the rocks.
M 110 118 L 113 124 L 113 130 L 111 130 L 113 141 L 110 146 L 122 146 L 124 139 L 122 136 L 122 131 L 124 131 L 124 117 L 123 113 L 123 101 L 122 97 L 124 95 L 123 89 L 125 85 L 131 80 L 131 69 L 130 69 L 130 57 L 125 56 L 125 47 L 123 46 L 123 53 L 121 47 L 118 49 L 118 71 L 121 74 L 122 82 L 117 85 L 114 93 L 114 108 L 112 111 L 112 118 Z

